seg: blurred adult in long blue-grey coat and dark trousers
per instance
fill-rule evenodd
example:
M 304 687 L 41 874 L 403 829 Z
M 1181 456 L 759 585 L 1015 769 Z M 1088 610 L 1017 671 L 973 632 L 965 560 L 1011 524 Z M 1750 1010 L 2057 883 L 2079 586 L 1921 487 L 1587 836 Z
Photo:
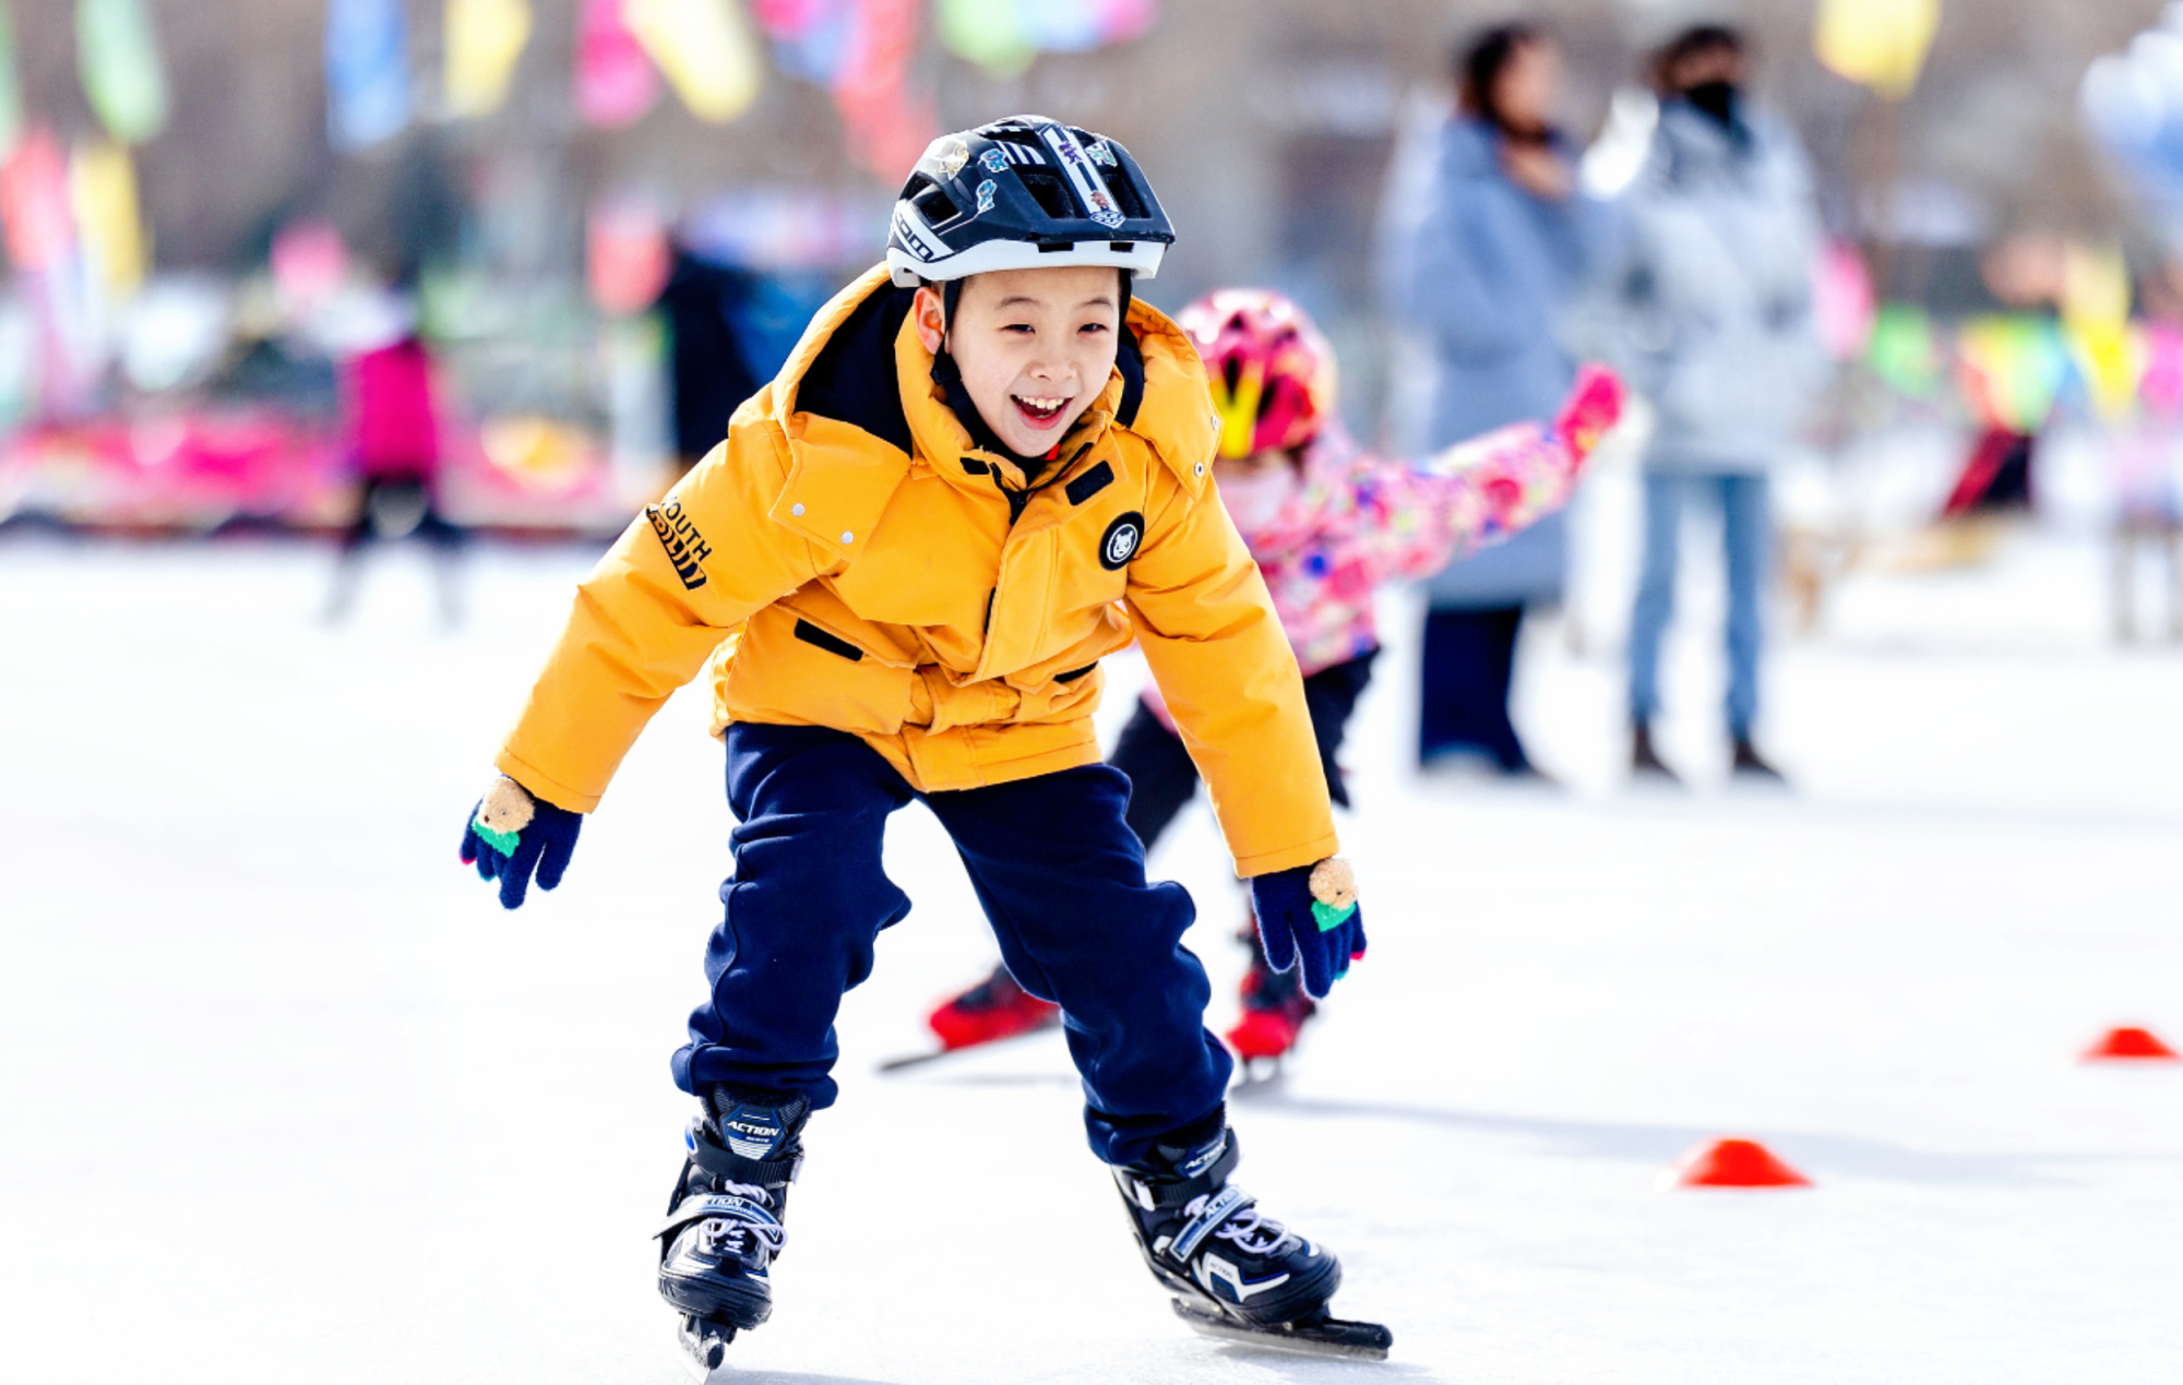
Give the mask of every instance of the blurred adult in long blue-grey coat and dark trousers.
M 1550 419 L 1576 363 L 1561 328 L 1607 269 L 1613 214 L 1578 194 L 1554 129 L 1561 52 L 1530 24 L 1489 28 L 1458 52 L 1458 109 L 1439 131 L 1428 192 L 1397 212 L 1388 310 L 1430 343 L 1428 448 Z M 1482 754 L 1535 776 L 1508 721 L 1508 684 L 1526 603 L 1559 601 L 1567 524 L 1450 564 L 1430 590 L 1419 760 Z

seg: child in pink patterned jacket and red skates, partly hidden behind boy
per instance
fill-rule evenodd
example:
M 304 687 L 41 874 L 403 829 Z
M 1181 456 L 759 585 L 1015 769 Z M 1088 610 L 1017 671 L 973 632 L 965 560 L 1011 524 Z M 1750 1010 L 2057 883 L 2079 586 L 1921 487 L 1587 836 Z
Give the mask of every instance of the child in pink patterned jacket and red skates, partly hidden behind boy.
M 1297 651 L 1327 789 L 1347 808 L 1334 756 L 1380 653 L 1373 592 L 1556 513 L 1591 446 L 1620 417 L 1622 384 L 1611 371 L 1587 367 L 1552 428 L 1515 424 L 1419 463 L 1388 461 L 1360 450 L 1340 426 L 1334 350 L 1288 297 L 1222 288 L 1174 321 L 1205 358 L 1220 422 L 1214 459 L 1220 507 L 1251 548 Z M 1126 821 L 1150 850 L 1198 789 L 1198 771 L 1157 686 L 1140 697 L 1107 762 L 1129 776 Z M 1242 1018 L 1227 1040 L 1246 1062 L 1279 1060 L 1314 1005 L 1295 972 L 1268 966 L 1253 928 L 1244 928 L 1244 939 L 1251 970 Z M 1054 1005 L 995 966 L 934 1009 L 930 1025 L 952 1051 L 1057 1018 Z

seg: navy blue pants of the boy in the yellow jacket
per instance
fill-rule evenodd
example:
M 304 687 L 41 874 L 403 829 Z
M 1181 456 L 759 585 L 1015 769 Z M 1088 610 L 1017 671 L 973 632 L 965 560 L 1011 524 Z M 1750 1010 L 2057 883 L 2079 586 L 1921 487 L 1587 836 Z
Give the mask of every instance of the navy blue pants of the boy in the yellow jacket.
M 880 928 L 910 911 L 880 843 L 917 797 L 954 839 L 1009 972 L 1061 1005 L 1092 1151 L 1131 1164 L 1218 1129 L 1231 1062 L 1181 944 L 1196 909 L 1181 885 L 1146 883 L 1120 771 L 919 795 L 856 736 L 801 725 L 727 727 L 736 874 L 675 1084 L 834 1103 L 834 1011 L 871 974 Z

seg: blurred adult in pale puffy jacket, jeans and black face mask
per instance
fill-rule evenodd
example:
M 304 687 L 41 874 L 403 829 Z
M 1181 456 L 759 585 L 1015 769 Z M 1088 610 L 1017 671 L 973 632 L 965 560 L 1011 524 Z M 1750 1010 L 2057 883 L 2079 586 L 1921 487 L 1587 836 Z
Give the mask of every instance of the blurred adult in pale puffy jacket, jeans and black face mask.
M 1631 614 L 1631 765 L 1670 780 L 1653 719 L 1692 505 L 1718 509 L 1725 531 L 1733 765 L 1779 778 L 1751 743 L 1773 551 L 1768 470 L 1825 371 L 1812 321 L 1810 170 L 1788 127 L 1746 100 L 1746 66 L 1742 37 L 1714 24 L 1661 50 L 1659 125 L 1624 197 L 1631 376 L 1659 417 L 1644 459 L 1644 570 Z

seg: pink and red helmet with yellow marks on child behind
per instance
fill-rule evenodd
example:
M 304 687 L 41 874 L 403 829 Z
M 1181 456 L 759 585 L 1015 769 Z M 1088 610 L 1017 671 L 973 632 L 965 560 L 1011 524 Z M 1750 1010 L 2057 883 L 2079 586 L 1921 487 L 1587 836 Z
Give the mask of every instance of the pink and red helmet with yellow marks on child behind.
M 1174 319 L 1205 358 L 1220 457 L 1301 448 L 1334 417 L 1334 347 L 1271 288 L 1216 288 Z

